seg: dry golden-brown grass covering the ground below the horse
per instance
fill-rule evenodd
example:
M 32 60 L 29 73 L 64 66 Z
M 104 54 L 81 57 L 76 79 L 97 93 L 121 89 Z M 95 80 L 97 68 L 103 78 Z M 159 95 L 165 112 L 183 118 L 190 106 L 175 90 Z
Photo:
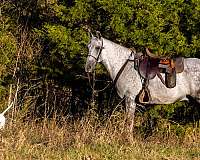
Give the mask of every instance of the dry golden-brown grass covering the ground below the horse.
M 168 126 L 167 134 L 156 131 L 146 139 L 126 128 L 119 113 L 106 122 L 93 112 L 77 121 L 9 119 L 0 131 L 0 159 L 200 159 L 200 128 L 188 127 L 180 137 Z

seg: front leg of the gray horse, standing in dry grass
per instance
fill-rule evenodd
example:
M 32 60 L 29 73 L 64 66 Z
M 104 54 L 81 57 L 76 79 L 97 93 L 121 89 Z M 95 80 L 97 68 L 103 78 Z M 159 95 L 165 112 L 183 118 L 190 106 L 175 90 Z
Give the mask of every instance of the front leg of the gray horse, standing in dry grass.
M 136 108 L 135 98 L 126 97 L 126 111 L 128 113 L 127 122 L 128 122 L 130 133 L 133 132 L 135 108 Z

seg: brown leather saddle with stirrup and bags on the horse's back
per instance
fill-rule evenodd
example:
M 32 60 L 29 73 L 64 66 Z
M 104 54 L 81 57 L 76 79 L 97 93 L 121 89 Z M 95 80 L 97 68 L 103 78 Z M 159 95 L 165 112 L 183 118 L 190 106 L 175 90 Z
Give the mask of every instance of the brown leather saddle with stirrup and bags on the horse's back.
M 167 88 L 176 86 L 176 74 L 184 70 L 183 58 L 160 57 L 152 54 L 146 48 L 146 54 L 136 53 L 134 57 L 134 67 L 143 78 L 143 87 L 138 94 L 140 103 L 148 103 L 151 100 L 150 91 L 148 89 L 149 80 L 154 79 L 156 75 Z M 165 80 L 161 73 L 165 74 Z

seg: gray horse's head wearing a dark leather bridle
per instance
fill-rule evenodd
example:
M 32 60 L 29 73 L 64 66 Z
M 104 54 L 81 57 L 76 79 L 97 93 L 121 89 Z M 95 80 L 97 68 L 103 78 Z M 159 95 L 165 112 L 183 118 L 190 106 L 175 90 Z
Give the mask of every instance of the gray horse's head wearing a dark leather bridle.
M 101 52 L 103 49 L 103 39 L 100 32 L 97 32 L 97 36 L 91 34 L 91 40 L 88 44 L 88 57 L 85 64 L 86 72 L 93 72 L 97 62 L 101 62 Z

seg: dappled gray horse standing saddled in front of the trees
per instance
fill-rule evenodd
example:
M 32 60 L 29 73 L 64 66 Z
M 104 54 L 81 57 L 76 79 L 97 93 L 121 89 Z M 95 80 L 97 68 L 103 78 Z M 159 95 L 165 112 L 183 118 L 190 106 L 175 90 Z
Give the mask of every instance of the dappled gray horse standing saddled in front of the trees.
M 134 59 L 135 54 L 130 49 L 101 37 L 100 33 L 96 37 L 91 34 L 88 49 L 85 71 L 93 72 L 99 62 L 106 67 L 115 82 L 118 95 L 121 98 L 125 97 L 130 131 L 132 131 L 136 108 L 135 98 L 142 89 L 141 77 L 134 69 L 134 61 L 129 61 L 130 58 Z M 149 80 L 148 89 L 151 94 L 149 104 L 170 104 L 178 100 L 188 100 L 187 95 L 200 102 L 200 59 L 184 58 L 184 70 L 177 74 L 174 88 L 167 88 L 156 76 Z

